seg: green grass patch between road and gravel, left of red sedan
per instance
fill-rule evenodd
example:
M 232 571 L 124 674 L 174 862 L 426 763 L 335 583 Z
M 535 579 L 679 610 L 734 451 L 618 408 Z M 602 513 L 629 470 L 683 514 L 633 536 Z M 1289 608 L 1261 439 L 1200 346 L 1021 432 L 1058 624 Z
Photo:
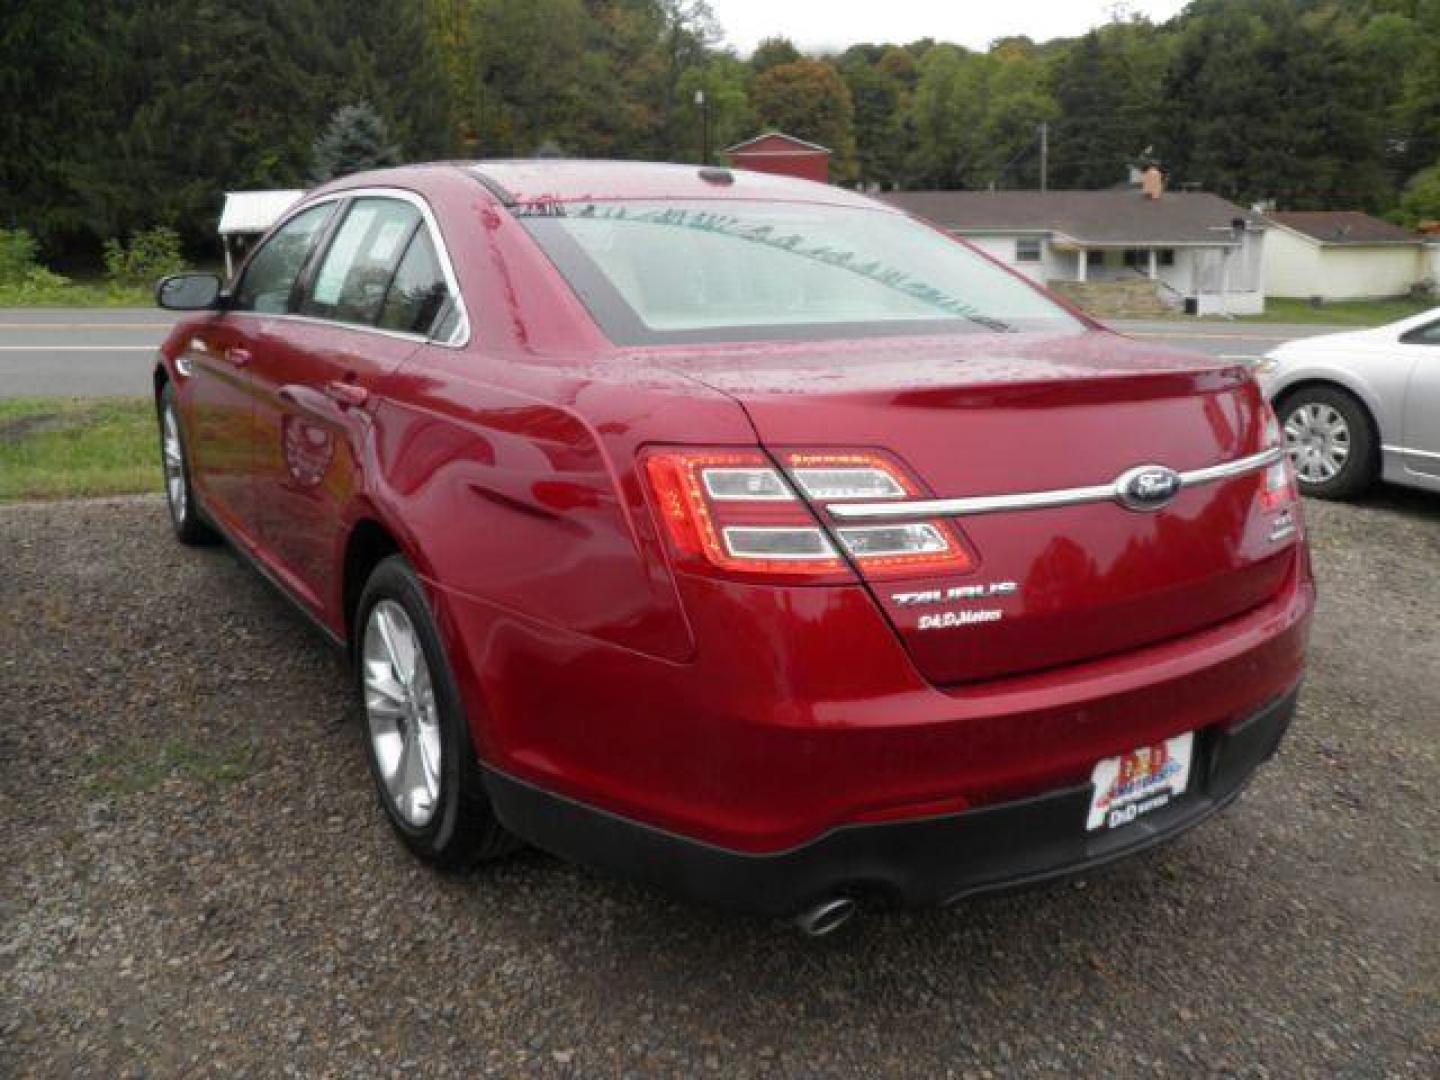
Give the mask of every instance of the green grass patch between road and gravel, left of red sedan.
M 158 438 L 144 397 L 0 399 L 0 503 L 160 491 Z

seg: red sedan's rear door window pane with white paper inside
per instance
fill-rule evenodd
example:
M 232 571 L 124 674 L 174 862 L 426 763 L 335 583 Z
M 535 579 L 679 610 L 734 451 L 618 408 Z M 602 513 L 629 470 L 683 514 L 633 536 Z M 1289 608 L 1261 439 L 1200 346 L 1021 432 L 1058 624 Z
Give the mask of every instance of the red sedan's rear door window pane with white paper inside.
M 374 325 L 420 212 L 399 199 L 356 199 L 336 229 L 300 314 Z

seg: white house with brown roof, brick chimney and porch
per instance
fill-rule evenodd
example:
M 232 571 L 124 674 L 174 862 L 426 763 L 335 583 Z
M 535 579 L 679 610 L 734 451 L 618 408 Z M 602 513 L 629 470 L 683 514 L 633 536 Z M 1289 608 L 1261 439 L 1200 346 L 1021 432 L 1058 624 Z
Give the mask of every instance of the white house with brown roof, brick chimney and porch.
M 1151 279 L 1200 315 L 1264 310 L 1264 223 L 1205 192 L 887 192 L 1041 284 Z

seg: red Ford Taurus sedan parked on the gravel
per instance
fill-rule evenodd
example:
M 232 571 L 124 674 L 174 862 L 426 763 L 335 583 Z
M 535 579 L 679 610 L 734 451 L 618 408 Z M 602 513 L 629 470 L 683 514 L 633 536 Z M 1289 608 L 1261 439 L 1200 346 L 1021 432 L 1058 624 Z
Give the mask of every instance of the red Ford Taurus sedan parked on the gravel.
M 441 865 L 528 841 L 825 932 L 1195 825 L 1295 711 L 1250 376 L 841 189 L 370 173 L 158 301 L 176 533 L 350 649 Z

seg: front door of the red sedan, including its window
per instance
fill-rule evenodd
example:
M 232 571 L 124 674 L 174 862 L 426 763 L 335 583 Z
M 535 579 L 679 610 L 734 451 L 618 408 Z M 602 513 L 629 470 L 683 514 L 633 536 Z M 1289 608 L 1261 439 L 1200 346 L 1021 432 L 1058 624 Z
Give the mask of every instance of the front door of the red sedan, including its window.
M 255 384 L 251 367 L 265 351 L 265 327 L 289 310 L 291 294 L 333 206 L 291 217 L 251 256 L 223 311 L 199 325 L 179 357 L 181 409 L 190 433 L 190 469 L 206 513 L 253 546 Z

